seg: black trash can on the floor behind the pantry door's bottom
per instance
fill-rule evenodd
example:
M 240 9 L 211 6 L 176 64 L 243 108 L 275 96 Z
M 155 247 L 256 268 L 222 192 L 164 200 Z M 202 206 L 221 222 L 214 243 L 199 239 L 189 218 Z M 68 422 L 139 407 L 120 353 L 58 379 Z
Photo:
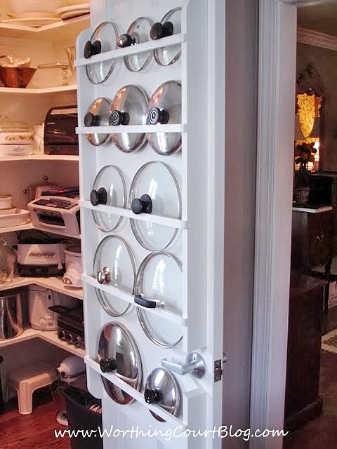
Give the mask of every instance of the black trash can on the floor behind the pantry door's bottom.
M 61 389 L 60 394 L 65 398 L 68 428 L 74 431 L 70 436 L 71 448 L 103 449 L 103 438 L 99 431 L 99 428 L 102 431 L 102 415 L 93 411 L 96 405 L 100 407 L 100 400 L 72 385 Z

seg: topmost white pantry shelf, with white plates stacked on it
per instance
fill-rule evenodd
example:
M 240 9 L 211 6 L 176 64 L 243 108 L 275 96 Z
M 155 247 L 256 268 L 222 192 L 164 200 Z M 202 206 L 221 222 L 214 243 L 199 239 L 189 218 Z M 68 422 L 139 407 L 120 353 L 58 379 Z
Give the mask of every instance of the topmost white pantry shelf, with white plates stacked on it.
M 89 27 L 90 15 L 81 15 L 77 18 L 61 20 L 60 22 L 44 25 L 42 27 L 27 27 L 25 25 L 11 25 L 0 22 L 0 37 L 7 39 L 37 39 L 46 41 L 62 41 L 74 39 L 82 29 Z

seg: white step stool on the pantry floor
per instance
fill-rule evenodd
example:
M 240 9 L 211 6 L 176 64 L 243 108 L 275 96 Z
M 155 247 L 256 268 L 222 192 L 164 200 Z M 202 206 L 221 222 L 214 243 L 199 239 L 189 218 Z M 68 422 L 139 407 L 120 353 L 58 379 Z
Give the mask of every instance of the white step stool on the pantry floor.
M 6 392 L 11 387 L 18 393 L 18 408 L 21 415 L 32 413 L 32 396 L 35 390 L 51 385 L 58 380 L 56 368 L 51 363 L 39 362 L 34 366 L 21 366 L 6 375 Z M 6 394 L 7 397 L 7 394 Z

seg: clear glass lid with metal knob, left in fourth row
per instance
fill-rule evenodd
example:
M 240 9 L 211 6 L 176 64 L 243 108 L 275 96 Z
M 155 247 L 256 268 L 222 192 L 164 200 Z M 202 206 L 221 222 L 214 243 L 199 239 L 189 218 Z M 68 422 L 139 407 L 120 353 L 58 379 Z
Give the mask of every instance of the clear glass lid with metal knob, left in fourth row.
M 132 295 L 136 267 L 128 243 L 118 236 L 105 237 L 96 249 L 93 260 L 93 276 L 100 284 L 114 286 Z M 111 316 L 121 316 L 131 306 L 131 304 L 100 288 L 95 290 L 101 306 Z

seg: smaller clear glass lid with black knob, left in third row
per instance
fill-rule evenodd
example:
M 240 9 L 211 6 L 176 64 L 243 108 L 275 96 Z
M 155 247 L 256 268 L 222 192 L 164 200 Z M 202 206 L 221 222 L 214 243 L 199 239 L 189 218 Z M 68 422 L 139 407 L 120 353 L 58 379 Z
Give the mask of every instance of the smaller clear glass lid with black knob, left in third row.
M 93 182 L 90 193 L 90 201 L 93 206 L 106 204 L 107 206 L 126 207 L 126 185 L 123 173 L 115 166 L 105 166 L 100 169 Z M 115 213 L 93 210 L 95 225 L 103 232 L 111 232 L 116 229 L 121 217 Z

